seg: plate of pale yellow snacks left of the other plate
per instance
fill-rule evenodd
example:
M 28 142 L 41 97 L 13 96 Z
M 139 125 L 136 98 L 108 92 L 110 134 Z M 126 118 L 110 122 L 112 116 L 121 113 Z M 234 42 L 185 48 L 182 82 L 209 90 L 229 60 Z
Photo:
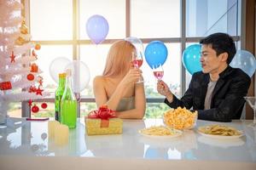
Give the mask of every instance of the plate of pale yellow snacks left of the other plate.
M 165 127 L 165 126 L 152 126 L 148 128 L 143 128 L 139 130 L 138 133 L 150 138 L 166 139 L 166 138 L 176 138 L 182 135 L 183 132 L 180 130 Z

